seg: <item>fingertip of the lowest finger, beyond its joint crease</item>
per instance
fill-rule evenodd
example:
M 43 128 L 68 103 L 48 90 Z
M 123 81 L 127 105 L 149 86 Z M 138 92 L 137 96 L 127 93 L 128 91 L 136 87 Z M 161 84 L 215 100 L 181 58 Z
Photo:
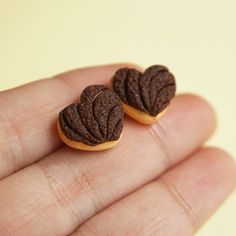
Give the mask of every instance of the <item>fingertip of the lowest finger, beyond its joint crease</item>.
M 177 188 L 184 197 L 184 203 L 190 206 L 190 213 L 194 216 L 194 228 L 197 229 L 234 190 L 236 166 L 224 150 L 200 148 L 163 175 L 162 179 L 174 189 Z

